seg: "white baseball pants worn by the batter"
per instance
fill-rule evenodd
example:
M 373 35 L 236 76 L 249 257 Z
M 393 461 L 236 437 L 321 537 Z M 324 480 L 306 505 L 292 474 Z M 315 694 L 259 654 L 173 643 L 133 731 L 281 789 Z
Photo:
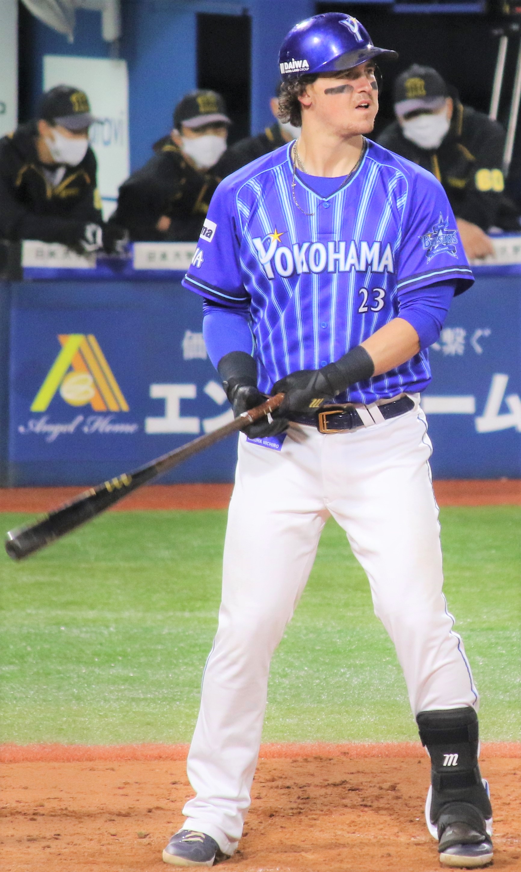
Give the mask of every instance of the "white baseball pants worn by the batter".
M 349 433 L 301 428 L 281 451 L 241 434 L 224 551 L 219 628 L 188 756 L 186 829 L 232 854 L 250 805 L 274 649 L 293 616 L 329 515 L 369 578 L 413 712 L 477 708 L 442 594 L 438 510 L 423 412 Z

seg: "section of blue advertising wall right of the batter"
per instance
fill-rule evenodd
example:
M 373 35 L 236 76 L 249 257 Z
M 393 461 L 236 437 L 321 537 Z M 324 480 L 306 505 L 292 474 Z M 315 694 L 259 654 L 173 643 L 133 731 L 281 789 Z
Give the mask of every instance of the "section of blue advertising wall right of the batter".
M 521 277 L 479 277 L 430 348 L 435 478 L 521 477 Z

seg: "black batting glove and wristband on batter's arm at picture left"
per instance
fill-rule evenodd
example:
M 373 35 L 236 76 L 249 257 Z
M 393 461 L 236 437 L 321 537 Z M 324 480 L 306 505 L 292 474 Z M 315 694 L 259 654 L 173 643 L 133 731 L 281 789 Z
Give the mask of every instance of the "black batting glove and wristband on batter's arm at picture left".
M 227 398 L 233 406 L 233 415 L 239 418 L 242 412 L 253 409 L 254 406 L 264 403 L 266 394 L 260 393 L 257 388 L 257 364 L 254 358 L 246 351 L 231 351 L 220 358 L 217 371 L 222 378 Z M 263 436 L 276 436 L 288 429 L 288 419 L 277 417 L 269 421 L 260 419 L 255 424 L 246 427 L 244 433 L 250 439 L 260 439 Z

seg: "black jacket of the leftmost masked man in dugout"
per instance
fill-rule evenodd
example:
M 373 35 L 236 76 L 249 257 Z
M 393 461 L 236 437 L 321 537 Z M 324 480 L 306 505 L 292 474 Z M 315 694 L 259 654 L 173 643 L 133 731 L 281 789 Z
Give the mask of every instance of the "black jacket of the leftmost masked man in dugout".
M 0 140 L 0 239 L 39 239 L 74 248 L 85 224 L 102 222 L 96 157 L 89 147 L 78 167 L 65 167 L 54 186 L 38 160 L 36 137 L 36 122 L 30 121 Z

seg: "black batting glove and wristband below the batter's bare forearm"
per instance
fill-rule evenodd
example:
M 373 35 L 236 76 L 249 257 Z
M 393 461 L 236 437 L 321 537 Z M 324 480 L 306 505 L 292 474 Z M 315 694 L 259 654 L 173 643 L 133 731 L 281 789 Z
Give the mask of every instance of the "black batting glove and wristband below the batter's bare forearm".
M 274 412 L 274 418 L 293 417 L 313 412 L 324 400 L 333 400 L 349 385 L 371 378 L 375 364 L 362 345 L 344 354 L 334 364 L 323 366 L 320 370 L 299 370 L 290 372 L 273 386 L 272 395 L 285 394 L 281 405 Z

